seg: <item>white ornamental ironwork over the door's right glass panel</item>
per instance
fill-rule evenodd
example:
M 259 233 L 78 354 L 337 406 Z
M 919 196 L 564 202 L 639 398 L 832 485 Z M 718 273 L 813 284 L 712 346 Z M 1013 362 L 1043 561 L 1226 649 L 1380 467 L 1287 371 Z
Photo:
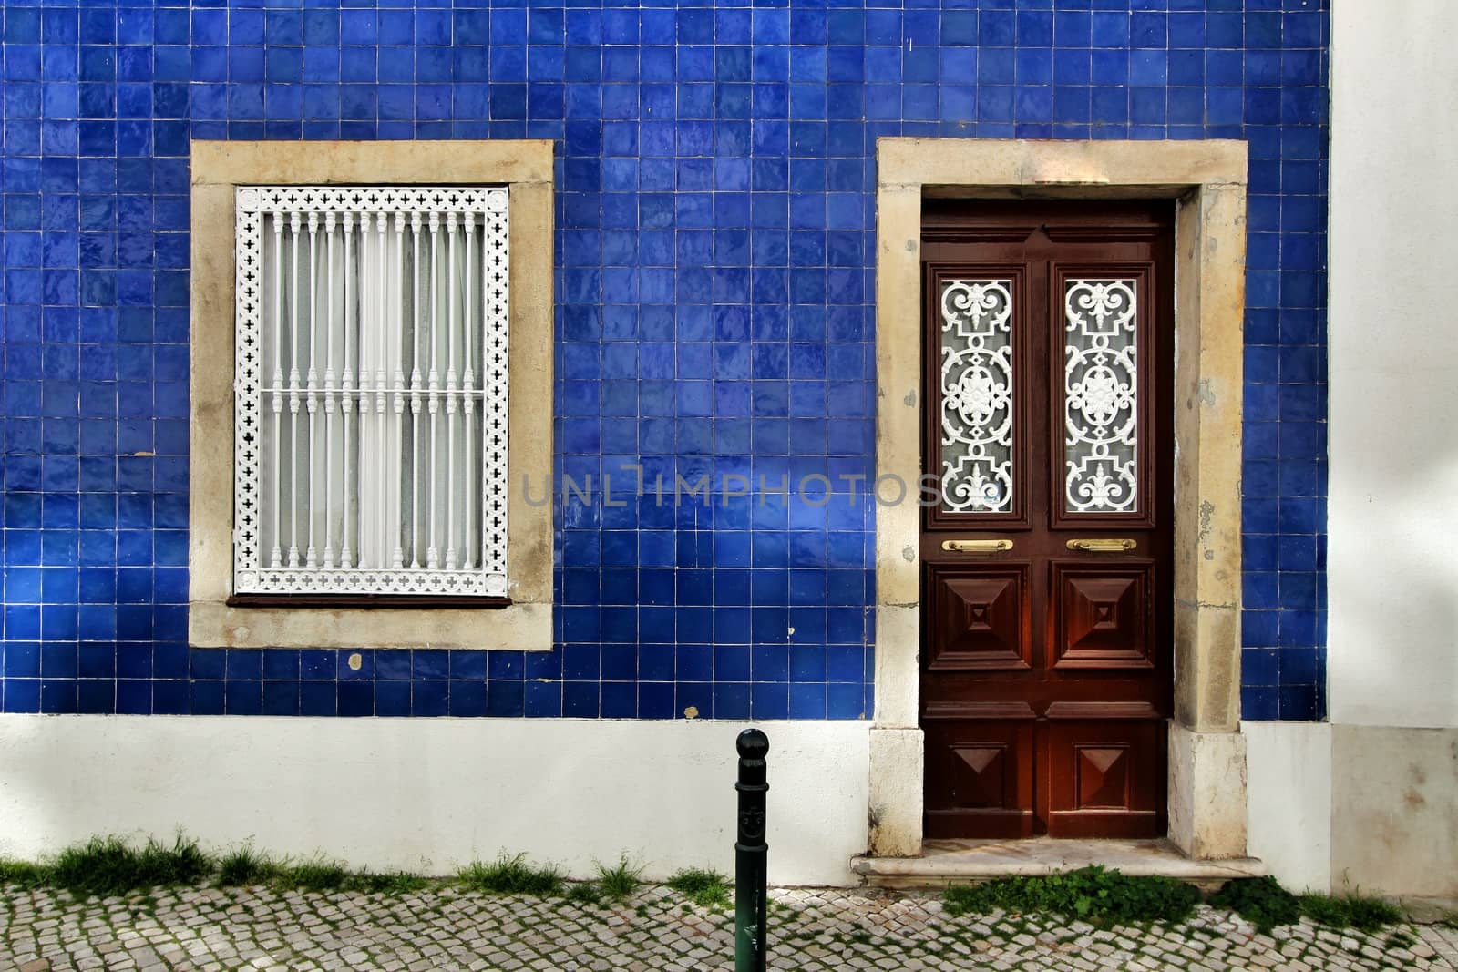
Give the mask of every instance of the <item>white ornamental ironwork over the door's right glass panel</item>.
M 1137 280 L 1064 284 L 1064 512 L 1139 503 Z

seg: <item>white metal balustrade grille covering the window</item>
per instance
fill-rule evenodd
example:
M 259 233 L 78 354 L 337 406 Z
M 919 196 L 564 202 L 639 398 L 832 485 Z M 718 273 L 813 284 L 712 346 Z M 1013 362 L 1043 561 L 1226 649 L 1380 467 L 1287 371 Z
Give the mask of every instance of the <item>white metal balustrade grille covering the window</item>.
M 236 593 L 506 595 L 507 191 L 241 187 Z

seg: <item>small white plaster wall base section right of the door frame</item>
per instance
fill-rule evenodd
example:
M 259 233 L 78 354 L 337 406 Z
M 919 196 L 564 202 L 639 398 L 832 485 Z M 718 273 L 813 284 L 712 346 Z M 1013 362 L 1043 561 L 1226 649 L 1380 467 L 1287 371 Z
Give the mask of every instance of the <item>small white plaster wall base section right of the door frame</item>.
M 1293 890 L 1331 887 L 1331 726 L 1241 723 L 1247 847 Z

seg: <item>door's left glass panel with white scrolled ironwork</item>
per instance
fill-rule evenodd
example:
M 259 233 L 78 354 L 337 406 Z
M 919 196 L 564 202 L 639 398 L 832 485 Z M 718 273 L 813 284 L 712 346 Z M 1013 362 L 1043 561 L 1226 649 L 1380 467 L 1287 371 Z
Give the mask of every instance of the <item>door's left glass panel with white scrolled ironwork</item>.
M 1012 510 L 1012 281 L 942 281 L 942 509 Z

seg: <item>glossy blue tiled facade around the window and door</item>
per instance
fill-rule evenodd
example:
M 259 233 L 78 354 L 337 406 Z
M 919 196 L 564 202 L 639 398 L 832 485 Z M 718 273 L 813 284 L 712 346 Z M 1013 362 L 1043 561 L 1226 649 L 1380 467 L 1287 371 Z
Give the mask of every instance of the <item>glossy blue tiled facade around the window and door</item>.
M 1324 717 L 1324 0 L 6 0 L 7 713 L 860 718 L 875 141 L 1244 138 L 1244 716 Z M 187 647 L 188 140 L 557 143 L 551 653 Z

